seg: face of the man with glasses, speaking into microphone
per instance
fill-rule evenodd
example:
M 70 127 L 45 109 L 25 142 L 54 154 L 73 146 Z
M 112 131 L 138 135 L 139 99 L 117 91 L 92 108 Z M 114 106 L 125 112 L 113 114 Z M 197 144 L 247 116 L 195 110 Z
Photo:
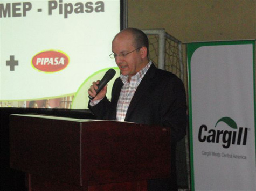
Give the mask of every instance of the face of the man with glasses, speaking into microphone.
M 133 42 L 133 36 L 129 32 L 120 33 L 112 42 L 112 52 L 117 55 L 115 62 L 122 75 L 129 75 L 129 79 L 144 67 L 140 49 L 135 50 L 139 47 L 135 47 Z M 132 52 L 133 50 L 135 51 Z M 129 54 L 120 56 L 126 53 Z

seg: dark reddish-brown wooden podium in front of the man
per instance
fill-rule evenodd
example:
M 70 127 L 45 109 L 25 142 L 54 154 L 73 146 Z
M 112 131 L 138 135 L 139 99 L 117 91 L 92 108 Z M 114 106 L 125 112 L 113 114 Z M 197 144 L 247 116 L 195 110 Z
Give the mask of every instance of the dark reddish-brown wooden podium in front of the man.
M 147 190 L 170 176 L 170 129 L 36 114 L 10 116 L 10 167 L 29 190 Z

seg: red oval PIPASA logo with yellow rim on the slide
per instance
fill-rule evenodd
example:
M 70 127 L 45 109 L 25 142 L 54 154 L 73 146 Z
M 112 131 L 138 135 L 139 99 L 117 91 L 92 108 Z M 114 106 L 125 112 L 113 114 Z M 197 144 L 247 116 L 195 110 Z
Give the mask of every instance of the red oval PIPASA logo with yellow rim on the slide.
M 67 67 L 70 62 L 68 56 L 57 50 L 47 50 L 36 54 L 32 58 L 34 68 L 44 72 L 57 72 Z

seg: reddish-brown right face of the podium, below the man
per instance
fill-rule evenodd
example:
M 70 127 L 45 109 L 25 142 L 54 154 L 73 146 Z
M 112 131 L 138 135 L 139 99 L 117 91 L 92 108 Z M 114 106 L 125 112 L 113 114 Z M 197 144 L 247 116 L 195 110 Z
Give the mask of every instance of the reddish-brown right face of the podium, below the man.
M 82 123 L 82 137 L 89 185 L 170 177 L 170 128 L 95 121 Z

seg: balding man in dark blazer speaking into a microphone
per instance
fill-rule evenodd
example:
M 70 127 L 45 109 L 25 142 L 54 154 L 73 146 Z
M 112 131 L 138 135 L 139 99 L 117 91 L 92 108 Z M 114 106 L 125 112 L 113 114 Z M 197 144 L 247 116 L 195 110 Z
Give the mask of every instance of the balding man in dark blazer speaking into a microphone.
M 148 58 L 148 46 L 147 35 L 135 28 L 124 29 L 115 36 L 110 57 L 115 58 L 121 76 L 114 82 L 111 101 L 106 98 L 107 85 L 96 94 L 99 80 L 93 82 L 88 94 L 94 99 L 88 107 L 97 119 L 170 127 L 171 180 L 150 181 L 148 188 L 177 190 L 175 148 L 186 133 L 185 89 L 177 76 L 155 67 Z

